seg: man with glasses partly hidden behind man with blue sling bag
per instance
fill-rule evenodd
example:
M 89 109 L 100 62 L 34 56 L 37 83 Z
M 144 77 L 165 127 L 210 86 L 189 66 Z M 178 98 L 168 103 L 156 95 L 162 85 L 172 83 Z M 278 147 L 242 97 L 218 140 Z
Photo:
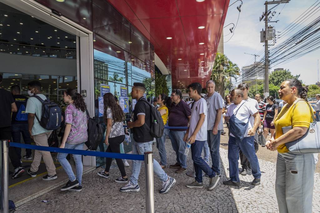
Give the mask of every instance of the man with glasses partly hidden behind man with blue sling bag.
M 259 103 L 255 99 L 248 97 L 249 85 L 247 83 L 241 83 L 238 85 L 238 89 L 241 89 L 243 92 L 243 100 L 250 102 L 254 106 L 254 108 L 256 108 L 259 111 L 260 110 Z M 259 126 L 260 126 L 260 123 L 259 123 Z M 254 149 L 255 149 L 256 153 L 259 149 L 258 140 L 259 140 L 258 134 L 256 133 L 254 135 Z M 241 170 L 240 174 L 247 175 L 248 168 L 251 169 L 249 160 L 243 154 L 243 152 L 241 150 L 240 150 L 239 155 L 240 155 L 240 161 L 241 161 L 241 166 L 242 166 L 242 170 Z

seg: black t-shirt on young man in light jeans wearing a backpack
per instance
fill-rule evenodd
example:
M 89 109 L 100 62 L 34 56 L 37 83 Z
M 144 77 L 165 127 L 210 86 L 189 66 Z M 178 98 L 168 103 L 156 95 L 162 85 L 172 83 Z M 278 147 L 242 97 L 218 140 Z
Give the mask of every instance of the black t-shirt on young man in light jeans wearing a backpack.
M 144 115 L 144 124 L 140 127 L 133 127 L 133 138 L 137 143 L 145 143 L 149 141 L 153 141 L 153 137 L 150 134 L 151 127 L 151 112 L 150 105 L 146 101 L 142 101 L 141 99 L 145 97 L 141 97 L 139 101 L 136 103 L 133 110 L 133 121 L 138 120 L 138 115 Z

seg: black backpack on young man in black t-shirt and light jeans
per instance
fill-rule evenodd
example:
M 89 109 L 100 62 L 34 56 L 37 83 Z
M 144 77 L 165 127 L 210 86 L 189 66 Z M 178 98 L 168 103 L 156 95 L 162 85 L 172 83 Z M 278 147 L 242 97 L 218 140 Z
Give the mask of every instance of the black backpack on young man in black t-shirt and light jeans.
M 150 106 L 151 136 L 154 138 L 161 138 L 164 132 L 164 123 L 159 110 L 157 110 L 155 107 L 152 107 L 152 105 L 146 99 L 142 98 L 140 100 L 145 101 Z

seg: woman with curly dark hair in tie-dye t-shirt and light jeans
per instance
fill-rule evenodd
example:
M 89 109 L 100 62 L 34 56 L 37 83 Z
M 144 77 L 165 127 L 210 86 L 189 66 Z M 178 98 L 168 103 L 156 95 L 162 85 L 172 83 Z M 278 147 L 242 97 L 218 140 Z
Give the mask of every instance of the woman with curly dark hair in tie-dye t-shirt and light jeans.
M 67 89 L 64 92 L 63 100 L 69 105 L 65 110 L 65 131 L 60 145 L 60 148 L 78 149 L 83 150 L 84 142 L 88 140 L 88 117 L 86 114 L 86 104 L 82 95 L 75 89 Z M 72 155 L 76 163 L 76 177 L 72 168 L 66 159 L 67 153 L 58 153 L 57 159 L 59 160 L 64 171 L 68 174 L 69 181 L 66 186 L 61 188 L 61 191 L 72 190 L 81 191 L 82 185 L 82 156 Z

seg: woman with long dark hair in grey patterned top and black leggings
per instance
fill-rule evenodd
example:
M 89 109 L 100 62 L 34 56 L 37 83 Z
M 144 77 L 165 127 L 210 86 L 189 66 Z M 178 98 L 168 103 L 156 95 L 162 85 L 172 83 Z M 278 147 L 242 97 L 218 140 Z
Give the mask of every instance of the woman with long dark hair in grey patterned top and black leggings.
M 103 95 L 104 104 L 104 121 L 107 126 L 105 143 L 108 145 L 106 152 L 120 153 L 120 143 L 124 141 L 123 120 L 124 112 L 120 105 L 117 104 L 114 96 L 111 93 Z M 104 171 L 98 172 L 98 175 L 104 178 L 109 177 L 109 170 L 112 158 L 107 158 L 106 168 Z M 115 181 L 117 183 L 128 182 L 127 175 L 124 170 L 124 163 L 122 159 L 116 158 L 121 177 Z

